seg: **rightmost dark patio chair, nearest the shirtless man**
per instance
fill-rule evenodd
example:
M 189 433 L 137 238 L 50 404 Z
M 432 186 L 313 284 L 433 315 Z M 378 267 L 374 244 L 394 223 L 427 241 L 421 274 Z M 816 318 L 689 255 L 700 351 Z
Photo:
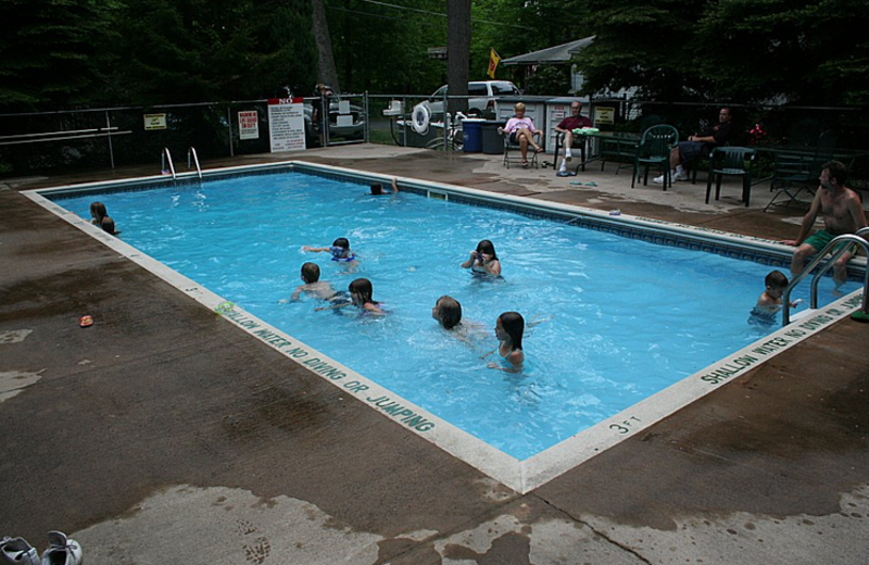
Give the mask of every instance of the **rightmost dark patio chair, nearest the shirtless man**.
M 769 185 L 769 190 L 776 191 L 776 194 L 764 211 L 776 204 L 780 197 L 786 197 L 788 200 L 779 202 L 779 205 L 788 205 L 798 200 L 797 197 L 804 190 L 814 198 L 821 167 L 833 158 L 837 140 L 839 134 L 828 129 L 818 137 L 814 153 L 789 151 L 788 149 L 776 150 L 772 153 L 774 171 Z

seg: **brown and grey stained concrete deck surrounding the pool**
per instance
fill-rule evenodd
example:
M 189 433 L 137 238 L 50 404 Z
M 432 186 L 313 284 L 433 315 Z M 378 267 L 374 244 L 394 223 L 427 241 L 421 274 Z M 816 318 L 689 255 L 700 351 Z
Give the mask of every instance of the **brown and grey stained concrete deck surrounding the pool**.
M 770 239 L 802 218 L 763 213 L 757 187 L 748 209 L 735 185 L 706 205 L 705 178 L 631 189 L 612 164 L 557 178 L 347 146 L 204 165 L 287 159 Z M 0 183 L 0 536 L 41 551 L 61 529 L 91 564 L 866 562 L 869 325 L 837 323 L 519 495 L 17 193 L 155 168 Z

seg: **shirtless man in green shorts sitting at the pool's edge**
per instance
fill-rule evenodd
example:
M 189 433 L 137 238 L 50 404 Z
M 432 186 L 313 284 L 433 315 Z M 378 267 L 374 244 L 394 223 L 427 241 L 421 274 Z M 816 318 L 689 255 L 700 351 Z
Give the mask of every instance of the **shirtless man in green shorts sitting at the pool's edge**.
M 806 266 L 806 259 L 820 252 L 835 236 L 854 234 L 858 229 L 866 227 L 862 202 L 860 202 L 860 198 L 855 191 L 845 186 L 846 175 L 845 165 L 839 161 L 830 161 L 823 165 L 819 178 L 821 185 L 817 194 L 815 194 L 811 208 L 803 218 L 799 237 L 782 241 L 785 246 L 797 248 L 791 260 L 791 273 L 793 275 L 798 275 Z M 819 229 L 811 237 L 808 237 L 818 214 L 823 216 L 823 229 Z M 852 256 L 854 256 L 854 246 L 851 246 L 851 249 L 843 253 L 833 265 L 833 280 L 836 286 L 841 286 L 847 280 L 845 265 L 851 261 Z

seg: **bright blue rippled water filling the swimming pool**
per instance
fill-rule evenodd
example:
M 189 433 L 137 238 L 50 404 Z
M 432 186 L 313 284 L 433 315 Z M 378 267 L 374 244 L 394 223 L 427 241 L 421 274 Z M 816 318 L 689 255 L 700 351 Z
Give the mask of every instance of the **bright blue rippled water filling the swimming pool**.
M 90 202 L 101 200 L 128 243 L 519 460 L 776 329 L 746 323 L 768 266 L 367 191 L 284 173 L 61 204 L 89 217 Z M 302 251 L 338 237 L 349 238 L 360 258 L 355 273 L 326 253 Z M 503 279 L 459 268 L 483 238 L 495 244 Z M 281 303 L 301 284 L 306 261 L 339 290 L 356 277 L 370 279 L 375 300 L 391 314 L 317 312 L 320 303 L 310 298 Z M 830 302 L 831 282 L 821 287 Z M 442 294 L 479 323 L 470 343 L 431 319 Z M 550 318 L 526 331 L 521 374 L 480 359 L 496 346 L 495 318 L 509 310 L 527 321 Z

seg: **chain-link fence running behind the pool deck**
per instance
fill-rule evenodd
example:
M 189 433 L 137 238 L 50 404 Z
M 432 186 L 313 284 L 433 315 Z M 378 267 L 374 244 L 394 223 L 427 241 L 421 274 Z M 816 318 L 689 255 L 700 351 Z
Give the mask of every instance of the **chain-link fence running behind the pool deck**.
M 444 120 L 444 109 L 459 98 L 470 102 L 471 97 L 364 93 L 340 99 L 305 98 L 306 147 L 370 141 L 439 150 L 461 148 L 461 130 L 451 120 Z M 521 97 L 511 98 L 509 104 L 518 98 Z M 533 98 L 540 101 L 545 97 Z M 425 128 L 416 120 L 421 116 L 414 115 L 420 104 L 428 108 Z M 732 109 L 733 146 L 811 147 L 821 133 L 833 129 L 840 148 L 869 147 L 869 116 L 865 109 L 592 99 L 587 111 L 593 117 L 597 106 L 615 109 L 614 124 L 609 126 L 615 129 L 642 131 L 666 123 L 688 136 L 714 125 L 721 105 Z M 329 108 L 328 117 L 320 108 Z M 240 113 L 247 116 L 248 130 L 250 121 L 255 121 L 255 137 L 241 135 Z M 156 116 L 161 127 L 148 128 L 148 116 Z M 492 116 L 482 113 L 481 117 Z M 270 150 L 269 134 L 268 100 L 2 114 L 0 174 L 148 163 L 156 166 L 164 148 L 176 161 L 182 160 L 191 147 L 201 161 L 266 153 Z M 860 187 L 867 186 L 869 159 L 855 160 L 852 178 Z

